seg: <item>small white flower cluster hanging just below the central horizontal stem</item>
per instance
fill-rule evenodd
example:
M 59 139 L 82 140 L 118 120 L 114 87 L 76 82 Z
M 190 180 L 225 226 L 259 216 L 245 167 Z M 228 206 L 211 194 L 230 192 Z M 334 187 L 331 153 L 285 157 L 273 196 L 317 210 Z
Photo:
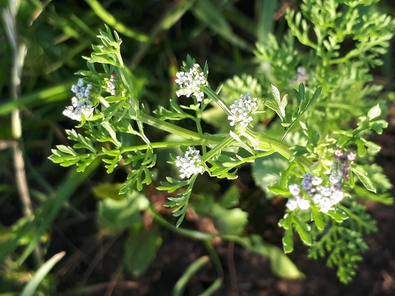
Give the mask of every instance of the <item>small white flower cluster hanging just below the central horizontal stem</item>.
M 175 160 L 175 165 L 179 167 L 179 176 L 181 178 L 190 178 L 194 174 L 203 174 L 205 168 L 201 163 L 200 152 L 194 147 L 188 147 L 184 157 L 178 156 Z

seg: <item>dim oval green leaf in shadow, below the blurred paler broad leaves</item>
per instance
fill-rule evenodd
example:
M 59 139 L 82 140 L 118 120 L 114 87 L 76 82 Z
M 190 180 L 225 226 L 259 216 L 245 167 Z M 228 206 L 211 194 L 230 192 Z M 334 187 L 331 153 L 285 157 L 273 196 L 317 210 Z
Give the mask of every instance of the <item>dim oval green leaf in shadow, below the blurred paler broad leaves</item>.
M 155 258 L 162 245 L 162 237 L 158 226 L 144 230 L 141 224 L 133 227 L 125 244 L 124 261 L 133 275 L 141 275 Z

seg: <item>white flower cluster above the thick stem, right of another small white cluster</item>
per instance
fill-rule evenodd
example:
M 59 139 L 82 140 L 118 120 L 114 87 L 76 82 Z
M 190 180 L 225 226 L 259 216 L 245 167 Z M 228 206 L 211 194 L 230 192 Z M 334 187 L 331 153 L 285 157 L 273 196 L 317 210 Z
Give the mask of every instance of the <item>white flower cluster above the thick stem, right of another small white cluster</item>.
M 248 126 L 253 121 L 251 115 L 258 109 L 257 98 L 251 98 L 249 92 L 245 96 L 240 94 L 240 100 L 235 100 L 230 108 L 231 115 L 228 116 L 228 119 L 231 120 L 230 125 L 233 126 L 240 122 L 242 126 Z

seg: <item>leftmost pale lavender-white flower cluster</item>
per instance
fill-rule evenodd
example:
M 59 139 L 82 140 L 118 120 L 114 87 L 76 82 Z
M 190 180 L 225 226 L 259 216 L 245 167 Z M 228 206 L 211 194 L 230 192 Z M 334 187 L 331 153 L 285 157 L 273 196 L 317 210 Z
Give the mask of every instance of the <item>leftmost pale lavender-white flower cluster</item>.
M 63 115 L 71 119 L 81 121 L 81 115 L 84 114 L 86 118 L 90 117 L 93 113 L 93 106 L 90 100 L 90 90 L 92 84 L 84 86 L 84 79 L 78 79 L 77 85 L 73 84 L 71 90 L 75 96 L 71 98 L 71 106 L 67 106 L 63 111 Z

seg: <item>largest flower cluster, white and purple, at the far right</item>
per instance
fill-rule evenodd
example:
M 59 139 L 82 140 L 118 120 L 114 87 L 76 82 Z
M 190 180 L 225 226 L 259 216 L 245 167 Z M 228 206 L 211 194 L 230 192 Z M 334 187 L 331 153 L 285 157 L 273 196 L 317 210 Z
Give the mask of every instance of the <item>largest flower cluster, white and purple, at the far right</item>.
M 293 198 L 290 198 L 285 206 L 291 211 L 294 211 L 296 208 L 307 210 L 310 206 L 310 200 L 308 198 L 311 198 L 322 213 L 328 213 L 329 210 L 333 209 L 335 204 L 338 204 L 344 198 L 341 184 L 342 179 L 348 180 L 350 170 L 349 161 L 355 160 L 355 157 L 355 152 L 345 154 L 341 149 L 335 150 L 333 166 L 329 175 L 330 185 L 322 186 L 322 178 L 312 176 L 311 174 L 304 174 L 301 185 L 295 183 L 288 187 Z M 303 192 L 305 192 L 305 195 L 303 195 Z

